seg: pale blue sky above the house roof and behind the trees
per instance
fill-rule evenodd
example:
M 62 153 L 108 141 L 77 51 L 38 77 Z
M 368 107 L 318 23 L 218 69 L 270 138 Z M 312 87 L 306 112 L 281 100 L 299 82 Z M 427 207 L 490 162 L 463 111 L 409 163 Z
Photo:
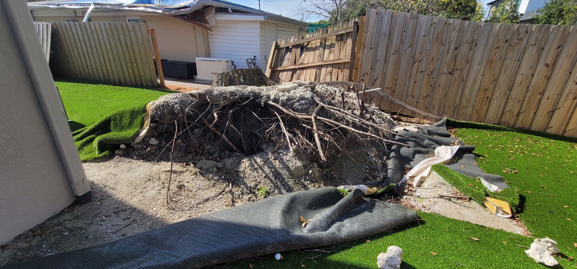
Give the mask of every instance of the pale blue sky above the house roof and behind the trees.
M 250 6 L 258 9 L 258 0 L 228 0 L 231 2 L 239 3 L 241 5 Z M 492 0 L 482 0 L 485 10 L 488 10 L 486 3 Z M 266 12 L 279 14 L 285 17 L 295 18 L 297 20 L 303 20 L 303 17 L 299 14 L 301 7 L 309 6 L 308 3 L 302 0 L 260 0 L 260 9 Z M 323 17 L 320 16 L 304 16 L 304 21 L 314 22 L 319 21 Z

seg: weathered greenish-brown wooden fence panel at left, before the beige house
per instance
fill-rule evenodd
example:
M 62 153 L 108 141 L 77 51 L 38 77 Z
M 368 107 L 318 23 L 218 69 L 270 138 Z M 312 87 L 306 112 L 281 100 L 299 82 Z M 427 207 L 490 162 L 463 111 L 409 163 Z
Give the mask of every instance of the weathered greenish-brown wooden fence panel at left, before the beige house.
M 53 73 L 110 84 L 158 87 L 144 22 L 51 22 Z

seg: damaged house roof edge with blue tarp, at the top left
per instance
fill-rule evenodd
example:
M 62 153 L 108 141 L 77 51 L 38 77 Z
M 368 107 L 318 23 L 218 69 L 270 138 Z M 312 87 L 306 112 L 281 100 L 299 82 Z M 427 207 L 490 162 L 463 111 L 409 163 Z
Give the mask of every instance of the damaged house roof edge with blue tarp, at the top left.
M 91 5 L 103 9 L 123 9 L 138 12 L 163 13 L 170 16 L 190 14 L 201 9 L 203 5 L 211 5 L 238 10 L 242 13 L 264 14 L 268 18 L 299 26 L 308 25 L 308 22 L 295 20 L 294 18 L 284 17 L 225 0 L 48 0 L 28 3 L 29 7 L 53 8 L 86 8 Z

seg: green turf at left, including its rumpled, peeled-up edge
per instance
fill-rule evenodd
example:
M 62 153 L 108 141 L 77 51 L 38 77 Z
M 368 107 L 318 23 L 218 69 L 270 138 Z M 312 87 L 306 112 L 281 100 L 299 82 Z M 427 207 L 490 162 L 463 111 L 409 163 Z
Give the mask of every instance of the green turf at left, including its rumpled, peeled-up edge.
M 173 90 L 57 81 L 80 160 L 110 156 L 140 130 L 144 107 Z

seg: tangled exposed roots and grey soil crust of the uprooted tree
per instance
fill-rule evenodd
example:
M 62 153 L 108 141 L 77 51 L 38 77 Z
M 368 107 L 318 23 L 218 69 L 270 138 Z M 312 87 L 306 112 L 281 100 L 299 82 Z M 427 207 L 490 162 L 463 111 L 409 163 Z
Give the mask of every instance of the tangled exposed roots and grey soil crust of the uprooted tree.
M 389 139 L 396 123 L 387 114 L 364 104 L 358 94 L 314 82 L 168 94 L 153 105 L 151 120 L 148 136 L 176 144 L 174 151 L 182 156 L 203 154 L 213 143 L 245 155 L 288 146 L 326 163 L 338 160 L 347 145 L 404 145 Z

